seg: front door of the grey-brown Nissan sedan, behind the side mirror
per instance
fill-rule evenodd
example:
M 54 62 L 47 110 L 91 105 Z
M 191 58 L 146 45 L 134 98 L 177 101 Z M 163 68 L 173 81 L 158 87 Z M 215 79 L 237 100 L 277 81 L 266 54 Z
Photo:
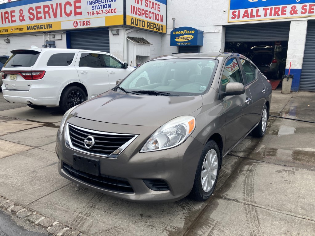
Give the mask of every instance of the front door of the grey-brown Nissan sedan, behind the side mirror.
M 223 67 L 219 89 L 224 92 L 228 83 L 244 83 L 239 64 L 242 61 L 236 57 L 228 58 Z M 252 117 L 252 100 L 249 87 L 241 95 L 226 96 L 221 99 L 226 118 L 225 152 L 232 149 L 254 126 Z

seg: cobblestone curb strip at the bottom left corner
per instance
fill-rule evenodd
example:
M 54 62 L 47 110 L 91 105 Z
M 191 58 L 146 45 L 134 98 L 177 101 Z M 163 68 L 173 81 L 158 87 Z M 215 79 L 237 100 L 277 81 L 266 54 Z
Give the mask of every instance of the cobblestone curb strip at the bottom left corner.
M 0 207 L 4 210 L 10 211 L 13 215 L 16 215 L 21 219 L 27 220 L 27 222 L 32 223 L 34 226 L 40 226 L 46 229 L 48 233 L 51 233 L 54 236 L 89 236 L 88 234 L 82 233 L 49 217 L 31 211 L 30 209 L 18 205 L 1 196 Z

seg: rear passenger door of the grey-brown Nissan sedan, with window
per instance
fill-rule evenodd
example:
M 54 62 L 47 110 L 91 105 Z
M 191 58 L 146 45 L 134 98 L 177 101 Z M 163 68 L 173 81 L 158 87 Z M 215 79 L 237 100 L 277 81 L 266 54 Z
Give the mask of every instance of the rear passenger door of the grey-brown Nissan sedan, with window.
M 258 69 L 248 60 L 242 63 L 246 87 L 252 96 L 253 113 L 252 119 L 257 124 L 261 119 L 262 109 L 266 103 L 266 86 L 258 76 Z

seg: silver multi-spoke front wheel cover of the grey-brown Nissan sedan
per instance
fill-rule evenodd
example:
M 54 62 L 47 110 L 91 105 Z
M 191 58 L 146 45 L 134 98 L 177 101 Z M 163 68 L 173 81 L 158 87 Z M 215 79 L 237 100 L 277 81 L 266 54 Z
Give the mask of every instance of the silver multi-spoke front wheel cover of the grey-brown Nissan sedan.
M 215 183 L 218 173 L 218 155 L 214 149 L 209 150 L 201 171 L 201 185 L 204 192 L 209 192 Z

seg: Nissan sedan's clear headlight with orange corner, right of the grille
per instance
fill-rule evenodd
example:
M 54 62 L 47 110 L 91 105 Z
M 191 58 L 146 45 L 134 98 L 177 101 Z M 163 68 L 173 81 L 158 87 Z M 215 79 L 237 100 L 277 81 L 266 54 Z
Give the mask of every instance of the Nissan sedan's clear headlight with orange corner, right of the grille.
M 177 117 L 154 132 L 140 152 L 152 152 L 176 147 L 191 135 L 195 127 L 195 117 Z

